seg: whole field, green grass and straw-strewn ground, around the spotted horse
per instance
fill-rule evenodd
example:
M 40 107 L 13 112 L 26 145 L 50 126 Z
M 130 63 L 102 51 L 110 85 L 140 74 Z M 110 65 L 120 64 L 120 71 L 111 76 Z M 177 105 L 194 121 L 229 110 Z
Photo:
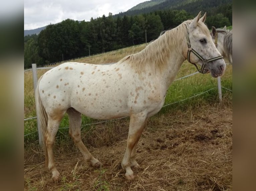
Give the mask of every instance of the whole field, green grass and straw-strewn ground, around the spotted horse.
M 145 44 L 75 61 L 114 63 L 144 47 Z M 38 78 L 46 71 L 38 70 Z M 176 79 L 194 72 L 194 65 L 185 61 Z M 149 119 L 138 143 L 138 162 L 142 165 L 134 171 L 136 178 L 131 182 L 124 178 L 120 166 L 128 118 L 97 123 L 101 120 L 83 116 L 82 140 L 104 164 L 94 169 L 84 164 L 69 137 L 65 116 L 54 148 L 56 163 L 61 163 L 57 168 L 62 178 L 57 183 L 52 182 L 43 165 L 36 119 L 24 121 L 24 190 L 232 190 L 231 65 L 227 65 L 222 86 L 220 104 L 217 79 L 210 74 L 196 74 L 172 83 L 166 106 Z M 36 116 L 31 71 L 24 73 L 24 113 L 24 118 Z

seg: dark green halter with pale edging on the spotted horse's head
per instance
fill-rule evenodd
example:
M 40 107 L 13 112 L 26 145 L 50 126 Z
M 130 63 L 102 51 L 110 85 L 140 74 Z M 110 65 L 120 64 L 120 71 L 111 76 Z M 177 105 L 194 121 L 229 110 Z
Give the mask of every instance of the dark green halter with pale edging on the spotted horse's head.
M 215 40 L 216 41 L 216 40 Z M 201 66 L 201 69 L 199 70 L 198 66 L 195 64 L 195 63 L 192 63 L 190 62 L 190 53 L 193 52 L 202 62 L 202 66 Z M 217 57 L 214 57 L 214 58 L 210 58 L 208 60 L 204 59 L 197 51 L 195 51 L 191 45 L 190 45 L 190 40 L 189 40 L 189 37 L 188 37 L 188 31 L 187 31 L 187 61 L 191 64 L 194 64 L 195 67 L 197 68 L 198 72 L 202 73 L 202 74 L 205 74 L 208 72 L 208 70 L 206 69 L 205 70 L 205 65 L 208 63 L 208 62 L 211 62 L 211 61 L 214 61 L 214 60 L 219 60 L 219 59 L 223 59 L 223 56 L 217 56 Z

